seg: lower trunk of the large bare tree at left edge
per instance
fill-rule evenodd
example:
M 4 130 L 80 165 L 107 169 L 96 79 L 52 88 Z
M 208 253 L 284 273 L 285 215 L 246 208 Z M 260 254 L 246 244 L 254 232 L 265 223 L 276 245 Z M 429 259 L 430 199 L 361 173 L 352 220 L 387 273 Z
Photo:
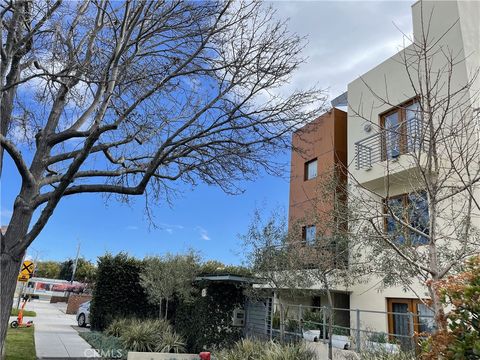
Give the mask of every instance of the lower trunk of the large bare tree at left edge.
M 3 244 L 2 244 L 3 245 Z M 0 254 L 0 354 L 5 358 L 5 338 L 7 335 L 10 311 L 17 284 L 17 276 L 23 256 L 12 258 L 9 254 Z

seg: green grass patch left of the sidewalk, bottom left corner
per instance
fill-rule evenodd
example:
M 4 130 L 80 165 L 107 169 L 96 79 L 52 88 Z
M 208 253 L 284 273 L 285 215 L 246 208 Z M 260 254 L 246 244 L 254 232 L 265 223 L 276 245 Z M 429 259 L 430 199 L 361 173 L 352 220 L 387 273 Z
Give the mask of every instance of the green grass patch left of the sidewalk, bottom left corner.
M 9 328 L 6 346 L 6 360 L 35 360 L 33 326 L 18 329 Z

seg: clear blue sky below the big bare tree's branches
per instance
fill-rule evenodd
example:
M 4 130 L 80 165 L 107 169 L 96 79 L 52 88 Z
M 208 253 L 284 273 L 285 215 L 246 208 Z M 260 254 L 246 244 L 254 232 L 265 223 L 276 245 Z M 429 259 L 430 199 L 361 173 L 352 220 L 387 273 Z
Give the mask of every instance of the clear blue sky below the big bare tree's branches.
M 8 204 L 13 203 L 20 184 L 13 162 L 8 157 L 5 160 L 2 224 L 8 222 Z M 240 264 L 237 235 L 245 232 L 255 207 L 288 204 L 288 180 L 265 175 L 241 185 L 245 192 L 236 196 L 204 184 L 194 189 L 183 187 L 172 206 L 161 202 L 151 207 L 157 228 L 150 225 L 145 214 L 144 197 L 132 198 L 130 204 L 97 194 L 64 198 L 28 255 L 63 260 L 75 256 L 80 241 L 81 255 L 91 260 L 107 251 L 143 257 L 192 248 L 205 259 Z

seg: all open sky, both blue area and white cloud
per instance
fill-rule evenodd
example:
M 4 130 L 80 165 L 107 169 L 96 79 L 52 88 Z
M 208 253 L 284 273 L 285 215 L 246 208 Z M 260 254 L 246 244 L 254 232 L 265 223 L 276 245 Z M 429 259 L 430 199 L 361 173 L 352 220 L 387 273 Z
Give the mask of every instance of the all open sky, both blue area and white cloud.
M 346 89 L 349 81 L 398 51 L 402 34 L 411 31 L 410 1 L 337 1 L 273 3 L 278 16 L 290 18 L 290 29 L 309 38 L 308 63 L 299 69 L 289 88 L 313 83 L 328 88 L 331 96 Z M 328 16 L 325 16 L 328 14 Z M 372 19 L 375 19 L 372 21 Z M 290 156 L 276 161 L 288 163 Z M 7 224 L 20 179 L 5 156 L 1 179 L 1 223 Z M 42 260 L 74 257 L 78 241 L 81 255 L 95 260 L 106 251 L 131 255 L 200 251 L 206 259 L 228 264 L 242 261 L 237 234 L 244 233 L 254 208 L 288 208 L 288 172 L 283 178 L 260 176 L 240 184 L 242 195 L 226 195 L 200 184 L 183 187 L 172 207 L 161 202 L 153 207 L 152 228 L 144 212 L 144 199 L 129 205 L 115 199 L 87 194 L 63 199 L 43 232 L 29 249 Z

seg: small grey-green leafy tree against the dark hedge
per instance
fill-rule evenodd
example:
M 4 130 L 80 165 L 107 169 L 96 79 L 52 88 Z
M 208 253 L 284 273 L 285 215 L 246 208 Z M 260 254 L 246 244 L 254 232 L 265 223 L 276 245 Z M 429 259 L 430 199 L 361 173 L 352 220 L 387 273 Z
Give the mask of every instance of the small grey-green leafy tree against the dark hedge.
M 140 284 L 149 300 L 158 306 L 161 315 L 165 301 L 165 319 L 168 316 L 168 303 L 173 296 L 187 299 L 192 291 L 192 283 L 198 273 L 199 257 L 193 251 L 186 255 L 166 254 L 145 259 L 140 274 Z

